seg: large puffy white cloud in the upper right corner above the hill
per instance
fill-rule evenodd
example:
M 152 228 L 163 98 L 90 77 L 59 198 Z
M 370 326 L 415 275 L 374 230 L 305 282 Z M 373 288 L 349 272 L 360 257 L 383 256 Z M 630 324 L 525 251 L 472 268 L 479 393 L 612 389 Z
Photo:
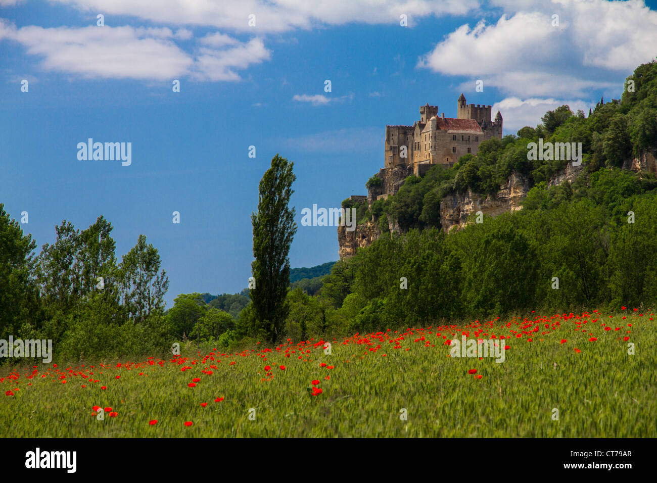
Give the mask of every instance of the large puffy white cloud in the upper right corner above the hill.
M 624 79 L 655 55 L 657 12 L 643 0 L 492 3 L 505 9 L 495 24 L 457 28 L 420 57 L 418 66 L 482 79 L 511 95 L 572 99 L 615 87 L 619 74 Z M 509 11 L 514 12 L 508 16 Z

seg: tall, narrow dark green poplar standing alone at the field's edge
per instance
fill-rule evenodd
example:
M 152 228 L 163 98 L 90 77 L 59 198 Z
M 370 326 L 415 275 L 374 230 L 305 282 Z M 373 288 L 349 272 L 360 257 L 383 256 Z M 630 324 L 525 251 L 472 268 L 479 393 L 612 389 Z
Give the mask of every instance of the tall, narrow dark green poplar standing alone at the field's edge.
M 294 208 L 289 208 L 294 163 L 278 154 L 271 160 L 258 187 L 258 212 L 253 225 L 252 275 L 256 288 L 250 290 L 256 318 L 273 344 L 283 335 L 288 314 L 286 294 L 290 285 L 290 245 L 296 233 Z

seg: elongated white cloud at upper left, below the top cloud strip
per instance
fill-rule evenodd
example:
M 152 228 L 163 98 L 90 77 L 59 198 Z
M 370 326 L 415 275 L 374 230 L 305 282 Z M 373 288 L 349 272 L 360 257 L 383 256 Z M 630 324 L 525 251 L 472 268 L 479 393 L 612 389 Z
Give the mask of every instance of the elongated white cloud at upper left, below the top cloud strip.
M 6 37 L 43 58 L 43 67 L 91 78 L 169 80 L 189 75 L 197 80 L 237 81 L 237 70 L 270 58 L 261 39 L 226 49 L 200 47 L 196 56 L 183 51 L 174 39 L 188 39 L 191 32 L 169 28 L 16 28 L 0 19 L 0 39 Z M 226 36 L 227 37 L 227 36 Z M 217 45 L 219 37 L 204 37 Z M 225 45 L 225 42 L 224 42 Z

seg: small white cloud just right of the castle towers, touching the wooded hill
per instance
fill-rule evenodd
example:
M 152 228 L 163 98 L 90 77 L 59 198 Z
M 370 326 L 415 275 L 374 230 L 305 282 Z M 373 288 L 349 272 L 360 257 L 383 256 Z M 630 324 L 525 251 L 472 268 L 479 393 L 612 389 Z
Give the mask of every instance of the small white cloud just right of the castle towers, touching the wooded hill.
M 545 115 L 545 112 L 555 110 L 558 106 L 564 104 L 570 106 L 572 112 L 581 109 L 587 115 L 589 114 L 589 108 L 595 106 L 595 103 L 591 104 L 578 100 L 559 101 L 557 99 L 536 98 L 522 100 L 518 97 L 507 97 L 507 99 L 493 104 L 491 111 L 497 112 L 499 110 L 504 118 L 505 132 L 515 134 L 521 127 L 536 127 L 541 123 L 541 118 Z

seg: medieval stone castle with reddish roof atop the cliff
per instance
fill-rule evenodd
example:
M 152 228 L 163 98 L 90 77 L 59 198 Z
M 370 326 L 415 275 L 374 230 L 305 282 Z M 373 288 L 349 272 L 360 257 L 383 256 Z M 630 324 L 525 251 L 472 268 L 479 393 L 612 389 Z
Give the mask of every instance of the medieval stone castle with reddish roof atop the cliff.
M 438 116 L 438 106 L 420 106 L 420 120 L 413 126 L 386 126 L 386 170 L 397 166 L 422 176 L 434 164 L 453 166 L 464 154 L 477 154 L 479 144 L 502 137 L 499 110 L 491 121 L 491 106 L 466 104 L 458 99 L 456 118 Z

